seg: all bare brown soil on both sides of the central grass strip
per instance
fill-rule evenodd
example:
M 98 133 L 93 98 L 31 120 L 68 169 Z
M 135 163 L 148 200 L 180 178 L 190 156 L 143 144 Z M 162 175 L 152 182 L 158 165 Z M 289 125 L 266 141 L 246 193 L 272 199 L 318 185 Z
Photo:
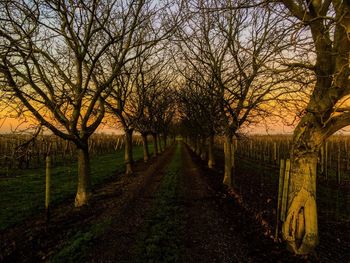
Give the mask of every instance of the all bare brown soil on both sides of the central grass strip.
M 78 230 L 111 218 L 107 231 L 89 247 L 86 261 L 132 262 L 133 246 L 174 150 L 172 146 L 150 163 L 137 163 L 133 176 L 118 175 L 102 185 L 88 207 L 77 210 L 67 200 L 53 209 L 49 224 L 40 215 L 0 233 L 0 261 L 48 261 Z M 181 155 L 177 205 L 183 213 L 183 228 L 178 233 L 183 262 L 346 262 L 329 261 L 322 253 L 292 255 L 283 244 L 274 242 L 252 210 L 225 191 L 220 164 L 208 169 L 184 144 Z

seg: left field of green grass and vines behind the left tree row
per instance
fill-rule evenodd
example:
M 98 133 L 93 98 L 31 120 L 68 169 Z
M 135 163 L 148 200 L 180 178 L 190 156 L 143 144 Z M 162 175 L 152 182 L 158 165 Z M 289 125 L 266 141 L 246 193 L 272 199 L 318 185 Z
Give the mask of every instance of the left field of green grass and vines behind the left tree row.
M 58 205 L 74 197 L 77 188 L 77 161 L 74 147 L 57 137 L 39 138 L 39 143 L 28 147 L 18 156 L 21 142 L 28 138 L 5 136 L 2 138 L 2 171 L 0 175 L 0 230 L 19 223 L 32 214 L 45 210 L 45 155 L 50 147 L 53 160 L 51 170 L 51 204 Z M 91 140 L 91 184 L 94 188 L 124 171 L 122 137 L 97 135 Z M 11 145 L 17 143 L 17 145 Z M 5 145 L 5 146 L 4 146 Z M 9 145 L 11 147 L 9 148 Z M 51 145 L 51 146 L 50 146 Z M 150 150 L 153 151 L 152 144 Z M 7 150 L 7 151 L 6 151 Z M 12 151 L 12 153 L 11 153 Z M 10 158 L 10 157 L 11 158 Z M 44 157 L 43 157 L 44 156 Z M 134 159 L 143 158 L 139 138 L 135 138 Z M 21 162 L 27 160 L 23 167 Z M 4 172 L 6 171 L 6 172 Z

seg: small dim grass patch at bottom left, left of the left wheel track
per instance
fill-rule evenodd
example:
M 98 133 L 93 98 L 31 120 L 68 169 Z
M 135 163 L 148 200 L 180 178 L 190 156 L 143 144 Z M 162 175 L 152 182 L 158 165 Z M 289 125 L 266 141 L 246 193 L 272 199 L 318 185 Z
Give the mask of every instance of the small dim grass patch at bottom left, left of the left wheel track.
M 78 231 L 65 242 L 60 251 L 51 258 L 50 262 L 84 262 L 88 255 L 89 246 L 106 231 L 111 223 L 112 219 L 107 218 L 102 222 L 92 225 L 87 231 Z

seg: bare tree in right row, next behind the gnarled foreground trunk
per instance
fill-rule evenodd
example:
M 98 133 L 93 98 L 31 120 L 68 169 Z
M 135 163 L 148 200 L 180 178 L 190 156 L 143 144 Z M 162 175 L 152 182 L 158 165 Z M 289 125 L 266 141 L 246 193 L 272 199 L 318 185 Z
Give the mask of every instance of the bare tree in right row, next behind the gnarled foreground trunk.
M 232 138 L 241 127 L 273 112 L 271 102 L 286 94 L 277 73 L 280 53 L 289 45 L 282 19 L 247 1 L 189 1 L 178 28 L 179 55 L 204 79 L 219 101 L 225 137 L 223 183 L 233 186 Z M 238 8 L 239 7 L 239 8 Z M 289 76 L 290 78 L 291 76 Z M 292 92 L 292 89 L 289 89 Z

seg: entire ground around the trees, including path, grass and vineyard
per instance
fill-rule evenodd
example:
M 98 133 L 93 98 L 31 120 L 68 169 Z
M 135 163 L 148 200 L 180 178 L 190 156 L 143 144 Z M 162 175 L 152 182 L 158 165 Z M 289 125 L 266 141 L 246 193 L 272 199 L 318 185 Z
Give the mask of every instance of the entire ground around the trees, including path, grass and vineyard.
M 330 157 L 347 137 L 328 142 L 329 159 L 324 161 L 328 165 L 323 167 L 327 177 L 319 163 L 320 244 L 308 257 L 287 253 L 281 242 L 278 160 L 288 158 L 289 137 L 234 141 L 235 194 L 222 186 L 220 138 L 213 169 L 179 139 L 148 163 L 136 161 L 133 176 L 123 175 L 121 138 L 106 138 L 104 147 L 96 143 L 91 155 L 91 204 L 78 210 L 72 206 L 76 159 L 74 154 L 63 157 L 58 149 L 64 147 L 57 147 L 50 222 L 44 220 L 44 161 L 34 158 L 28 168 L 13 165 L 12 174 L 2 174 L 0 202 L 5 213 L 0 221 L 4 240 L 0 261 L 277 262 L 283 258 L 284 262 L 346 262 L 349 258 L 347 158 L 341 157 L 339 183 L 339 162 Z M 139 138 L 135 142 L 134 158 L 140 160 Z

